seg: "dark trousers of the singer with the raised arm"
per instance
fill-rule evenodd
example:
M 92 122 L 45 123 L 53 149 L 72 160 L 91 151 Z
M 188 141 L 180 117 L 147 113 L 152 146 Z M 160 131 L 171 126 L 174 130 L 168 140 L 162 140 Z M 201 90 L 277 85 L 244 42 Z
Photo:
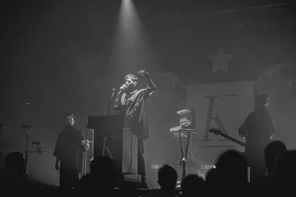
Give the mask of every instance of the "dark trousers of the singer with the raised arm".
M 138 174 L 141 175 L 142 186 L 147 187 L 143 139 L 138 139 Z

